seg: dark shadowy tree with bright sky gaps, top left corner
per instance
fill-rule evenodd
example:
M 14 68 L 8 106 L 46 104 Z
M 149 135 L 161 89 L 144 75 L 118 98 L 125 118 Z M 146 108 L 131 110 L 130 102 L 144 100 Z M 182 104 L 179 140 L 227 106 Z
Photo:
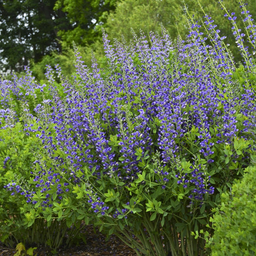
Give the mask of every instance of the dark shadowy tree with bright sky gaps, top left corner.
M 69 26 L 52 0 L 0 0 L 1 66 L 19 71 L 52 50 L 61 51 L 57 32 Z

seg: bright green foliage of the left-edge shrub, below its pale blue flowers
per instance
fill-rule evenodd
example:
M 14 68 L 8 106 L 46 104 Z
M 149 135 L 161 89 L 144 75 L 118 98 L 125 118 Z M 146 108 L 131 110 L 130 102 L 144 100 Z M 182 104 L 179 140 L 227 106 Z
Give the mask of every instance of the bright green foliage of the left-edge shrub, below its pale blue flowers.
M 35 121 L 26 122 L 33 124 L 37 130 L 38 124 Z M 72 205 L 72 199 L 67 198 L 63 205 L 56 203 L 54 207 L 44 210 L 26 201 L 24 195 L 10 195 L 7 192 L 6 184 L 15 183 L 13 192 L 16 190 L 23 191 L 25 195 L 30 194 L 31 187 L 37 184 L 34 174 L 40 175 L 42 171 L 35 161 L 41 159 L 49 167 L 52 166 L 36 132 L 27 134 L 24 128 L 23 123 L 16 122 L 12 128 L 0 129 L 0 241 L 10 247 L 22 242 L 53 249 L 85 241 L 79 234 L 81 220 L 77 220 L 73 214 L 76 207 Z M 6 157 L 10 159 L 5 161 Z M 39 187 L 34 197 L 36 200 L 45 200 L 40 190 Z M 68 238 L 65 238 L 67 234 Z M 17 255 L 24 255 L 20 251 L 21 246 Z M 31 249 L 26 251 L 28 255 L 29 252 Z

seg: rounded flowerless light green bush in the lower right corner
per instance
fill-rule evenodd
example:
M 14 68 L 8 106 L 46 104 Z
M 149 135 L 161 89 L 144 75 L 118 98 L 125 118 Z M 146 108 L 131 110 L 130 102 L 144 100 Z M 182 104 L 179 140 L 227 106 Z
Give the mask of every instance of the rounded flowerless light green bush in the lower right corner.
M 245 169 L 244 178 L 221 195 L 221 206 L 210 221 L 215 229 L 212 256 L 256 254 L 256 166 Z

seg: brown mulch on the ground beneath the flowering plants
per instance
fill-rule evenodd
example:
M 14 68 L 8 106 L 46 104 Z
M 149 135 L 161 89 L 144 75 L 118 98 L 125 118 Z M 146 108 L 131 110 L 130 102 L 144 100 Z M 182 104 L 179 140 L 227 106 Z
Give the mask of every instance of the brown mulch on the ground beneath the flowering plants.
M 52 254 L 47 247 L 38 247 L 34 256 L 136 256 L 136 253 L 124 244 L 117 236 L 111 235 L 106 242 L 105 235 L 94 232 L 92 226 L 86 229 L 86 244 L 60 249 Z M 15 249 L 0 244 L 0 256 L 13 256 Z

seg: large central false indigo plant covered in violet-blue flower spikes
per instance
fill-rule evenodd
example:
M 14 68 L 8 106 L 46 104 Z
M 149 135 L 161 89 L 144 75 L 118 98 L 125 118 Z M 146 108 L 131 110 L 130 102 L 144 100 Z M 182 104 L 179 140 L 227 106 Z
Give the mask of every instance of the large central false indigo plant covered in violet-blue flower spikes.
M 243 51 L 237 68 L 209 16 L 205 35 L 193 18 L 189 25 L 187 40 L 176 42 L 163 29 L 150 42 L 141 32 L 130 44 L 110 45 L 103 30 L 106 66 L 93 57 L 89 69 L 74 47 L 77 73 L 68 79 L 56 66 L 59 85 L 48 67 L 50 93 L 40 87 L 42 101 L 24 123 L 42 143 L 40 155 L 28 188 L 10 180 L 7 192 L 24 195 L 48 226 L 83 219 L 137 255 L 205 255 L 205 241 L 192 232 L 214 232 L 211 209 L 255 159 L 256 79 L 252 57 Z M 6 85 L 3 129 L 11 115 L 17 122 Z M 3 156 L 2 168 L 8 162 Z

